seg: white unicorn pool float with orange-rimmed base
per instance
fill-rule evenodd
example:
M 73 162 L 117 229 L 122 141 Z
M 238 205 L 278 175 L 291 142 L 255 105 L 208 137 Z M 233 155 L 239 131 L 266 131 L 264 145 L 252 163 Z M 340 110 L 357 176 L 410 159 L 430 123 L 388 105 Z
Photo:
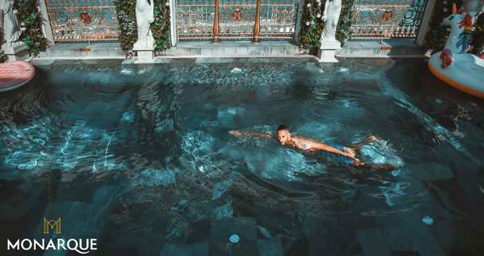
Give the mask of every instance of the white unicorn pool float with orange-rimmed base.
M 452 6 L 452 15 L 443 20 L 450 26 L 449 39 L 444 50 L 430 57 L 429 68 L 436 77 L 460 91 L 484 98 L 484 60 L 467 53 L 469 41 L 474 30 L 479 1 L 465 1 L 463 8 Z

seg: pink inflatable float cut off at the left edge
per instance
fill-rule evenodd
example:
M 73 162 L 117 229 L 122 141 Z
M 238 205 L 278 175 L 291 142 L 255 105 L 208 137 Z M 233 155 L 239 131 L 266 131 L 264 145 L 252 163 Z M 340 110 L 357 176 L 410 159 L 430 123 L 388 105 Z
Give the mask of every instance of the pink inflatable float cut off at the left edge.
M 0 93 L 17 89 L 35 75 L 34 66 L 15 61 L 0 64 Z

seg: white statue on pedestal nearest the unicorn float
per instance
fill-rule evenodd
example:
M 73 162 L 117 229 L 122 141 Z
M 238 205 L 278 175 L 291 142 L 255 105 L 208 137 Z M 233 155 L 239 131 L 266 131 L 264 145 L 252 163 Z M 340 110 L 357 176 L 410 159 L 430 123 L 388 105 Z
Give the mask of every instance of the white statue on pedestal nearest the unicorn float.
M 321 42 L 337 42 L 335 35 L 341 8 L 341 0 L 326 0 L 323 13 L 324 30 L 321 34 Z

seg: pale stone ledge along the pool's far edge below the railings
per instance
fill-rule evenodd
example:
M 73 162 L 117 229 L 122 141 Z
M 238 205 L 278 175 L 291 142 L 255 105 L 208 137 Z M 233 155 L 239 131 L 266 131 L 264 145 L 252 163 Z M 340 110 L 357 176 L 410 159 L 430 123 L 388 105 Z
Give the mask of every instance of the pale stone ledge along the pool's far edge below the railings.
M 82 51 L 82 48 L 91 48 Z M 127 51 L 121 48 L 120 42 L 105 43 L 60 43 L 41 52 L 44 60 L 90 60 L 90 59 L 124 59 Z M 211 42 L 180 42 L 156 56 L 156 63 L 167 63 L 173 59 L 192 59 L 195 62 L 234 62 L 236 58 L 268 58 L 270 61 L 279 58 L 308 58 L 317 60 L 308 50 L 285 41 L 267 41 L 260 44 L 252 42 L 227 41 L 221 44 Z M 422 47 L 412 39 L 391 39 L 383 42 L 348 42 L 336 57 L 425 57 Z M 130 64 L 127 60 L 125 64 Z

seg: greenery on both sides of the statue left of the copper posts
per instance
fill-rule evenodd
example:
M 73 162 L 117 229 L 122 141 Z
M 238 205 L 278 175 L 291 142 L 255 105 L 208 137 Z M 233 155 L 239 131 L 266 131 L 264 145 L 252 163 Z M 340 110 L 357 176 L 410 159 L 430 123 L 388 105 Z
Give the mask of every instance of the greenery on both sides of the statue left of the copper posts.
M 153 33 L 153 38 L 155 39 L 155 51 L 165 51 L 171 47 L 169 0 L 154 0 L 154 4 L 155 22 L 151 24 L 151 33 Z M 121 27 L 121 47 L 124 50 L 131 50 L 133 44 L 138 40 L 136 0 L 118 0 L 115 6 Z

